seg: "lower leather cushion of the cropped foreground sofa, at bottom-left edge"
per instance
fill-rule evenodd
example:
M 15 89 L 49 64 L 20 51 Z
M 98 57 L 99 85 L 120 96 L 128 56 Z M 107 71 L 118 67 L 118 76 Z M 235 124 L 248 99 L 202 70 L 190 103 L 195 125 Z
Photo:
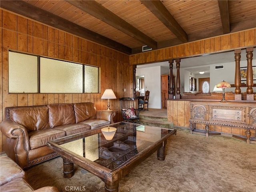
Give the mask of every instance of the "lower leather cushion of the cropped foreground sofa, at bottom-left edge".
M 1 186 L 1 191 L 4 192 L 32 192 L 34 189 L 24 178 L 15 179 L 3 186 Z

